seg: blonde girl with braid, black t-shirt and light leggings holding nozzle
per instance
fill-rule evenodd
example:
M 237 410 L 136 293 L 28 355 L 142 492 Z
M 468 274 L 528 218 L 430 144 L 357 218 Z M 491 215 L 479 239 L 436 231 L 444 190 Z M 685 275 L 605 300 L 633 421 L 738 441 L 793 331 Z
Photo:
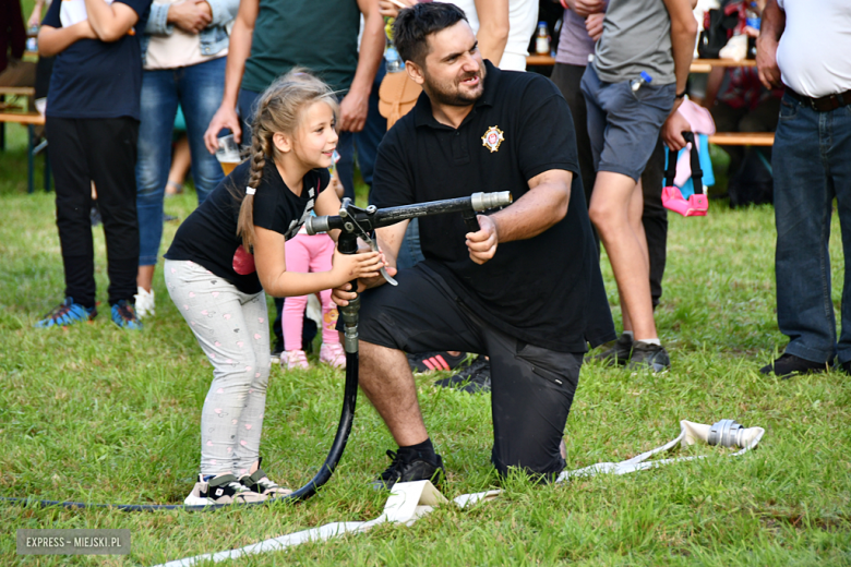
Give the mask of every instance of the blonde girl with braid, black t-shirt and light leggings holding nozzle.
M 286 244 L 314 208 L 336 214 L 328 186 L 337 104 L 324 83 L 292 71 L 260 98 L 251 156 L 181 225 L 166 285 L 213 365 L 201 414 L 201 475 L 185 504 L 260 502 L 288 494 L 260 468 L 269 374 L 264 289 L 304 295 L 375 276 L 377 253 L 334 253 L 327 272 L 287 269 Z M 332 234 L 336 238 L 336 234 Z

